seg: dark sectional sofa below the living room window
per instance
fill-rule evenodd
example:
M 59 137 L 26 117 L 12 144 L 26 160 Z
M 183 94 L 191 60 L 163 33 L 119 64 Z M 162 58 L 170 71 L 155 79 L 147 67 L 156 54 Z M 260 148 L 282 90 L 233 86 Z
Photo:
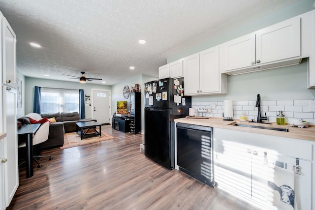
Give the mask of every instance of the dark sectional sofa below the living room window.
M 58 112 L 54 114 L 41 114 L 42 118 L 55 118 L 56 122 L 51 122 L 49 126 L 48 140 L 40 144 L 40 150 L 48 150 L 63 146 L 64 133 L 75 132 L 76 122 L 96 121 L 95 119 L 81 119 L 78 112 L 65 113 Z M 21 117 L 18 121 L 22 124 L 31 124 L 30 118 Z

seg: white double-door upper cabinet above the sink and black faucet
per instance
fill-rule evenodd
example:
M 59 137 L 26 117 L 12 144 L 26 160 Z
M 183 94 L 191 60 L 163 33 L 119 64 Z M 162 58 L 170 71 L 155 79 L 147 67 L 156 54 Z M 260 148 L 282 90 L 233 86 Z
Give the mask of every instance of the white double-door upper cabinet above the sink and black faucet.
M 223 44 L 223 72 L 233 75 L 299 64 L 301 20 L 288 19 Z

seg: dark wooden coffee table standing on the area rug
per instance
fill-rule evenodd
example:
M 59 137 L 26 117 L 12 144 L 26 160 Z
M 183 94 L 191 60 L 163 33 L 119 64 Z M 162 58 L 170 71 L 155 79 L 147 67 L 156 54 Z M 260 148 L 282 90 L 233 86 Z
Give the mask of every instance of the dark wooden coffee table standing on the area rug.
M 95 121 L 87 121 L 87 122 L 76 122 L 77 125 L 77 134 L 80 135 L 81 140 L 93 136 L 101 136 L 101 123 Z M 96 130 L 96 126 L 99 127 L 99 131 Z M 87 129 L 84 131 L 84 129 Z M 91 130 L 94 131 L 91 133 Z M 90 131 L 90 132 L 89 132 Z

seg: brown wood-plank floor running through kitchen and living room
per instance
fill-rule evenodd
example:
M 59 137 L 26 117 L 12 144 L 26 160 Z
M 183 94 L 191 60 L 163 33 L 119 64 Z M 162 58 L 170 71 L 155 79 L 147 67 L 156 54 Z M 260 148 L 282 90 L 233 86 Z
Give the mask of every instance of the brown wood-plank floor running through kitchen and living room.
M 140 153 L 144 135 L 102 130 L 115 139 L 46 150 L 34 176 L 20 169 L 20 186 L 6 210 L 254 210 L 228 193 Z

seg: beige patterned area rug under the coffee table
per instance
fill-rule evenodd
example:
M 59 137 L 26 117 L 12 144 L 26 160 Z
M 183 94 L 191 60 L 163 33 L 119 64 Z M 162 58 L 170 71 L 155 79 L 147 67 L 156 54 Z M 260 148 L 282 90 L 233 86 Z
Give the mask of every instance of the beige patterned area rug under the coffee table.
M 108 133 L 102 131 L 101 136 L 95 136 L 95 137 L 90 137 L 86 139 L 82 139 L 81 137 L 76 133 L 65 133 L 64 134 L 64 143 L 63 147 L 60 147 L 60 149 L 66 149 L 66 148 L 71 148 L 71 147 L 77 147 L 81 145 L 86 145 L 86 144 L 91 144 L 95 142 L 101 142 L 109 139 L 114 139 L 115 137 L 109 135 Z

